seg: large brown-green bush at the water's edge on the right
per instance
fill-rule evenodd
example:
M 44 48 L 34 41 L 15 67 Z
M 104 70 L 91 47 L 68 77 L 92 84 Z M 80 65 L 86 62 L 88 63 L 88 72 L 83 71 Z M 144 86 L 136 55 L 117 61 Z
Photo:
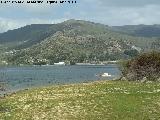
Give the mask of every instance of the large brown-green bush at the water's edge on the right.
M 127 80 L 156 81 L 160 78 L 160 52 L 143 53 L 121 65 L 122 75 Z

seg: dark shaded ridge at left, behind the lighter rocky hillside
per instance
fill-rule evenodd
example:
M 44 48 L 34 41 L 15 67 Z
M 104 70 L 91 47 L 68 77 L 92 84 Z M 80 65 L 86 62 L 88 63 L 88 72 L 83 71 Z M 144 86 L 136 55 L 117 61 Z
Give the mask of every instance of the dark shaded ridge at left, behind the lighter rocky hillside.
M 73 21 L 75 20 L 68 20 L 60 24 L 31 24 L 15 30 L 9 30 L 5 33 L 0 33 L 0 44 L 6 45 L 10 49 L 27 48 L 40 43 L 57 31 L 70 30 L 78 26 L 79 23 L 74 23 Z M 68 24 L 70 23 L 72 25 L 69 26 Z

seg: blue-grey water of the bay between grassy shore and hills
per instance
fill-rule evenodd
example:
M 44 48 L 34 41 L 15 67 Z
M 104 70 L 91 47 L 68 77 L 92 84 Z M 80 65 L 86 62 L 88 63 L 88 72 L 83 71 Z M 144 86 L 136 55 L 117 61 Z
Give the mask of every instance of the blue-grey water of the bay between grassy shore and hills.
M 100 78 L 96 74 L 108 72 L 111 77 Z M 25 66 L 0 68 L 0 81 L 6 83 L 7 92 L 32 87 L 72 84 L 119 77 L 116 65 L 106 66 Z

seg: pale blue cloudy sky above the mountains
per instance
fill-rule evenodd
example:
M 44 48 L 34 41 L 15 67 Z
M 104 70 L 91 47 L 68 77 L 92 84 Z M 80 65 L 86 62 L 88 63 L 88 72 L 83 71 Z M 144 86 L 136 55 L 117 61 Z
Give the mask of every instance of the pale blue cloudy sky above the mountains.
M 74 4 L 47 4 L 47 0 L 42 4 L 27 4 L 27 0 L 23 4 L 0 1 L 0 33 L 29 24 L 55 24 L 68 19 L 109 26 L 160 24 L 160 0 L 73 0 L 77 1 Z

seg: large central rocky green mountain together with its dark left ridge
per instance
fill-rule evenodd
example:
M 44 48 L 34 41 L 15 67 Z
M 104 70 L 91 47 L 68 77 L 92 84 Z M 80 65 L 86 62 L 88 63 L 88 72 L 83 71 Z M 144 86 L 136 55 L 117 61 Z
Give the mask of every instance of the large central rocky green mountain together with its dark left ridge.
M 115 28 L 83 20 L 29 25 L 0 34 L 10 64 L 53 64 L 128 59 L 160 48 L 157 39 L 135 37 Z

